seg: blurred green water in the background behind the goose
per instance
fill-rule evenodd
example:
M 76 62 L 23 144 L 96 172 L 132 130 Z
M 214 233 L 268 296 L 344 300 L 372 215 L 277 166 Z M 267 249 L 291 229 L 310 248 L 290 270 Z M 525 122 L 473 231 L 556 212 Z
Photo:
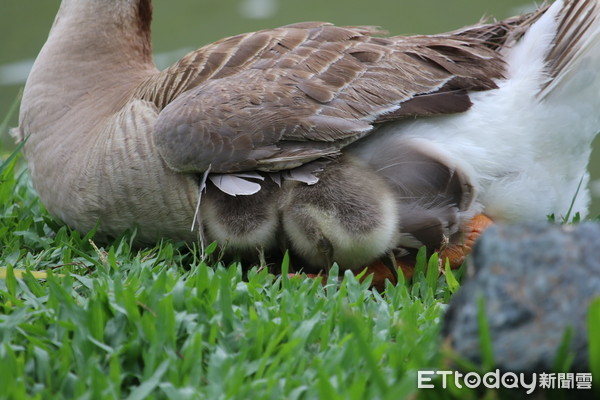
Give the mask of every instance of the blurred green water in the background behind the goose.
M 506 18 L 534 8 L 529 0 L 154 0 L 153 45 L 160 68 L 225 36 L 299 21 L 376 25 L 390 34 L 431 34 Z M 0 119 L 22 88 L 60 0 L 0 0 Z M 600 112 L 600 111 L 599 111 Z M 17 124 L 16 117 L 10 121 Z M 12 144 L 0 137 L 0 147 Z M 600 140 L 590 170 L 600 214 Z

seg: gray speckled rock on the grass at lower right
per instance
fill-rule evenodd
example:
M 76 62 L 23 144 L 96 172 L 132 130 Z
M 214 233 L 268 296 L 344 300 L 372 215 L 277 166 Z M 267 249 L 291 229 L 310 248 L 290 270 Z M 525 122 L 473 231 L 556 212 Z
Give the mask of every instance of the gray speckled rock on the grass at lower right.
M 600 224 L 496 225 L 478 240 L 470 263 L 470 279 L 452 299 L 443 327 L 461 357 L 481 362 L 477 299 L 483 296 L 497 368 L 551 372 L 571 326 L 572 371 L 589 370 L 587 310 L 600 296 Z

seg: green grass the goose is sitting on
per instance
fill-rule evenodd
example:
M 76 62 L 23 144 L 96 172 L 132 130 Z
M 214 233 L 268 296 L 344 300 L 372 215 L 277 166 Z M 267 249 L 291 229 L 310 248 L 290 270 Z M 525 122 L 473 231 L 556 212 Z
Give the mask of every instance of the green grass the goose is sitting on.
M 171 241 L 136 249 L 134 234 L 101 246 L 48 215 L 19 156 L 0 160 L 0 398 L 498 398 L 417 390 L 417 371 L 450 357 L 440 319 L 460 271 L 438 277 L 437 255 L 379 294 L 351 273 L 321 285 L 224 265 L 215 246 L 206 259 Z

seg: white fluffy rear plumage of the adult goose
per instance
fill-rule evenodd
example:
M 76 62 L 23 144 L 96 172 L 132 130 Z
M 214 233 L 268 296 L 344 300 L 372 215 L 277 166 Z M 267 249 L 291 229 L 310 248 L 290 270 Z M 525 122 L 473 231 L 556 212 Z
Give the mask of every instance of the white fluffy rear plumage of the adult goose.
M 541 92 L 563 7 L 556 1 L 504 50 L 507 78 L 498 89 L 472 93 L 469 111 L 388 125 L 360 152 L 418 142 L 444 154 L 470 176 L 478 202 L 496 220 L 564 216 L 582 182 L 573 212 L 585 215 L 586 168 L 600 130 L 600 22 L 595 4 L 593 25 L 577 43 L 581 48 Z

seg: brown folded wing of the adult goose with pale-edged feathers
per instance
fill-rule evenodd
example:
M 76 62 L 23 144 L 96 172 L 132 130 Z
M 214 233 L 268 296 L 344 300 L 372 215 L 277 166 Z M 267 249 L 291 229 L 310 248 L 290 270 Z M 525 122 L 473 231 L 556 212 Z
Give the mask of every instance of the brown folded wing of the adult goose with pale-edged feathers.
M 502 77 L 502 24 L 392 38 L 369 27 L 288 25 L 190 53 L 140 96 L 162 109 L 154 140 L 175 170 L 293 168 L 338 154 L 380 122 L 466 111 L 467 90 Z

